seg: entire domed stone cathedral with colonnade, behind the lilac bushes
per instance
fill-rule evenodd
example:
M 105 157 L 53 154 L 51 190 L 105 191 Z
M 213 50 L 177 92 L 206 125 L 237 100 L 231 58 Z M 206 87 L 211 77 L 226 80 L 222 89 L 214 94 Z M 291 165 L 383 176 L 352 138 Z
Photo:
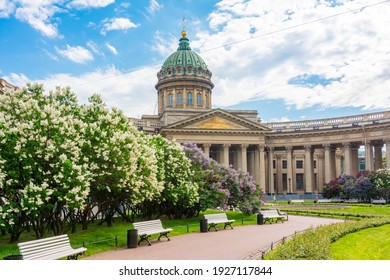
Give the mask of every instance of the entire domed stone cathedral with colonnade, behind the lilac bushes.
M 217 162 L 249 172 L 267 194 L 318 194 L 341 174 L 390 167 L 390 111 L 263 123 L 256 110 L 213 108 L 212 73 L 181 35 L 157 73 L 158 115 L 131 119 L 138 129 L 195 143 Z

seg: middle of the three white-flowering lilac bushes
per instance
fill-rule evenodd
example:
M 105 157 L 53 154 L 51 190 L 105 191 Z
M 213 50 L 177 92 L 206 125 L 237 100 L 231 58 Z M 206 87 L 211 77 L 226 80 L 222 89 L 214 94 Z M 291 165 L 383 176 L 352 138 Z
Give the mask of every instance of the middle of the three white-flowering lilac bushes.
M 96 205 L 111 226 L 124 205 L 151 201 L 162 191 L 162 183 L 157 180 L 154 150 L 124 114 L 109 110 L 98 95 L 89 101 L 81 108 L 87 125 L 82 150 L 92 175 L 88 209 Z

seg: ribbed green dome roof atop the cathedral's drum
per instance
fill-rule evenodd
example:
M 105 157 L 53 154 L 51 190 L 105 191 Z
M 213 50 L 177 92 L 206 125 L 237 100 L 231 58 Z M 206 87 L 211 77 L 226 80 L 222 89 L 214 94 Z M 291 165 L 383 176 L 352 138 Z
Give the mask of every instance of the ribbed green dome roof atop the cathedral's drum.
M 165 60 L 161 70 L 175 69 L 177 67 L 185 69 L 188 66 L 192 66 L 195 69 L 201 68 L 202 70 L 207 70 L 207 65 L 204 60 L 191 50 L 188 38 L 183 36 L 179 41 L 177 51 Z

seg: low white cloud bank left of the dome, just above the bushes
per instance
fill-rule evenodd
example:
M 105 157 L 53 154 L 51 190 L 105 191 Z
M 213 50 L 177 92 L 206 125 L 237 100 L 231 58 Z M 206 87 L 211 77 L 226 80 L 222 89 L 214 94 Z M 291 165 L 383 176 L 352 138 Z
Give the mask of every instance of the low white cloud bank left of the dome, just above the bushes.
M 54 90 L 56 86 L 70 86 L 82 104 L 87 103 L 92 94 L 98 93 L 108 106 L 121 109 L 129 117 L 140 118 L 143 114 L 156 113 L 154 84 L 158 70 L 159 66 L 156 66 L 123 73 L 110 67 L 77 77 L 62 73 L 42 80 L 30 80 L 23 74 L 11 74 L 5 79 L 19 87 L 27 82 L 42 83 L 47 91 Z

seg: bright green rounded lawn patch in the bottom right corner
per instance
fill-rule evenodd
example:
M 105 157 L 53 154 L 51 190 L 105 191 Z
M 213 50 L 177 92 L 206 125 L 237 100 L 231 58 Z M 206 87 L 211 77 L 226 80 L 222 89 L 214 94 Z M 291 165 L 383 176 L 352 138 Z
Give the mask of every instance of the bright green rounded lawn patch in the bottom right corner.
M 390 260 L 390 225 L 348 234 L 331 246 L 335 260 Z

